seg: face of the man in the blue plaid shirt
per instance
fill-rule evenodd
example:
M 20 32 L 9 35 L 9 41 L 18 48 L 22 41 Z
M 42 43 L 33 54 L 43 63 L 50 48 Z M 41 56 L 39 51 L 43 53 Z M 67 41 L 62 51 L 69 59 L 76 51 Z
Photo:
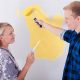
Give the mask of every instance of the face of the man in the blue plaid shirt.
M 68 29 L 75 30 L 77 28 L 76 18 L 73 17 L 71 10 L 64 10 L 65 22 Z

